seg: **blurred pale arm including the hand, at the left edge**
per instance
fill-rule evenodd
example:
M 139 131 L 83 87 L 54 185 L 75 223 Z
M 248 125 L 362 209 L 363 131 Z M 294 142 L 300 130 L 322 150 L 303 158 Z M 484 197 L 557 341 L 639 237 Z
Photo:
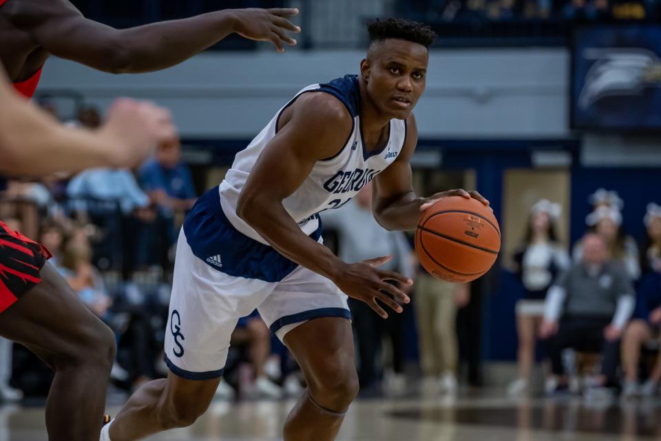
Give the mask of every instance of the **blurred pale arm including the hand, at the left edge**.
M 87 167 L 137 165 L 175 136 L 169 113 L 120 100 L 97 131 L 72 129 L 14 91 L 0 69 L 0 172 L 43 176 Z

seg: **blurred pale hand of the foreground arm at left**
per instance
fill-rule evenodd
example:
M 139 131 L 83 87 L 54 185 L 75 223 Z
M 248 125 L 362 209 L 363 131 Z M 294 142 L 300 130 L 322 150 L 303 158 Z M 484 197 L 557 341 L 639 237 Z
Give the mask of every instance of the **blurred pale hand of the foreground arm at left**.
M 114 140 L 109 152 L 114 167 L 134 167 L 149 156 L 156 145 L 176 137 L 170 112 L 154 103 L 118 99 L 110 108 L 99 132 Z

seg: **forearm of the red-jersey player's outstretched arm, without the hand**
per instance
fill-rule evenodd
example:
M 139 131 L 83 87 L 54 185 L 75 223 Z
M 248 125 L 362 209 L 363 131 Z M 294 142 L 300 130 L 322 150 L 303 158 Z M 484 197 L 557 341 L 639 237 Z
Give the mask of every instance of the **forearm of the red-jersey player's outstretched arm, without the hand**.
M 236 23 L 232 10 L 221 10 L 121 30 L 126 54 L 120 72 L 151 72 L 177 65 L 227 37 Z

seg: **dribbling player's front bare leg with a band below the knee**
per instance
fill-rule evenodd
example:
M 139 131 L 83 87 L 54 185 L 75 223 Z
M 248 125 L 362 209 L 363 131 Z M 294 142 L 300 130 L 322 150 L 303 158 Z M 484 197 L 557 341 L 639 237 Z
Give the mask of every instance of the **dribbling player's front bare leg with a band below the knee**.
M 315 318 L 289 331 L 284 342 L 308 384 L 284 424 L 284 440 L 335 440 L 358 393 L 351 322 L 340 317 Z

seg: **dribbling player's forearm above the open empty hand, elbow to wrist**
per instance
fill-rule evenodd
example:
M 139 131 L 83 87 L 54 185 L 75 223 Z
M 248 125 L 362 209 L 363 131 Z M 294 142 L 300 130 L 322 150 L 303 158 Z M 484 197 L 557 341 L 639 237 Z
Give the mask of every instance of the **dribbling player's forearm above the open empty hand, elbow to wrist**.
M 277 252 L 317 274 L 334 280 L 344 265 L 328 247 L 306 236 L 282 203 L 245 201 L 239 204 L 237 214 Z

